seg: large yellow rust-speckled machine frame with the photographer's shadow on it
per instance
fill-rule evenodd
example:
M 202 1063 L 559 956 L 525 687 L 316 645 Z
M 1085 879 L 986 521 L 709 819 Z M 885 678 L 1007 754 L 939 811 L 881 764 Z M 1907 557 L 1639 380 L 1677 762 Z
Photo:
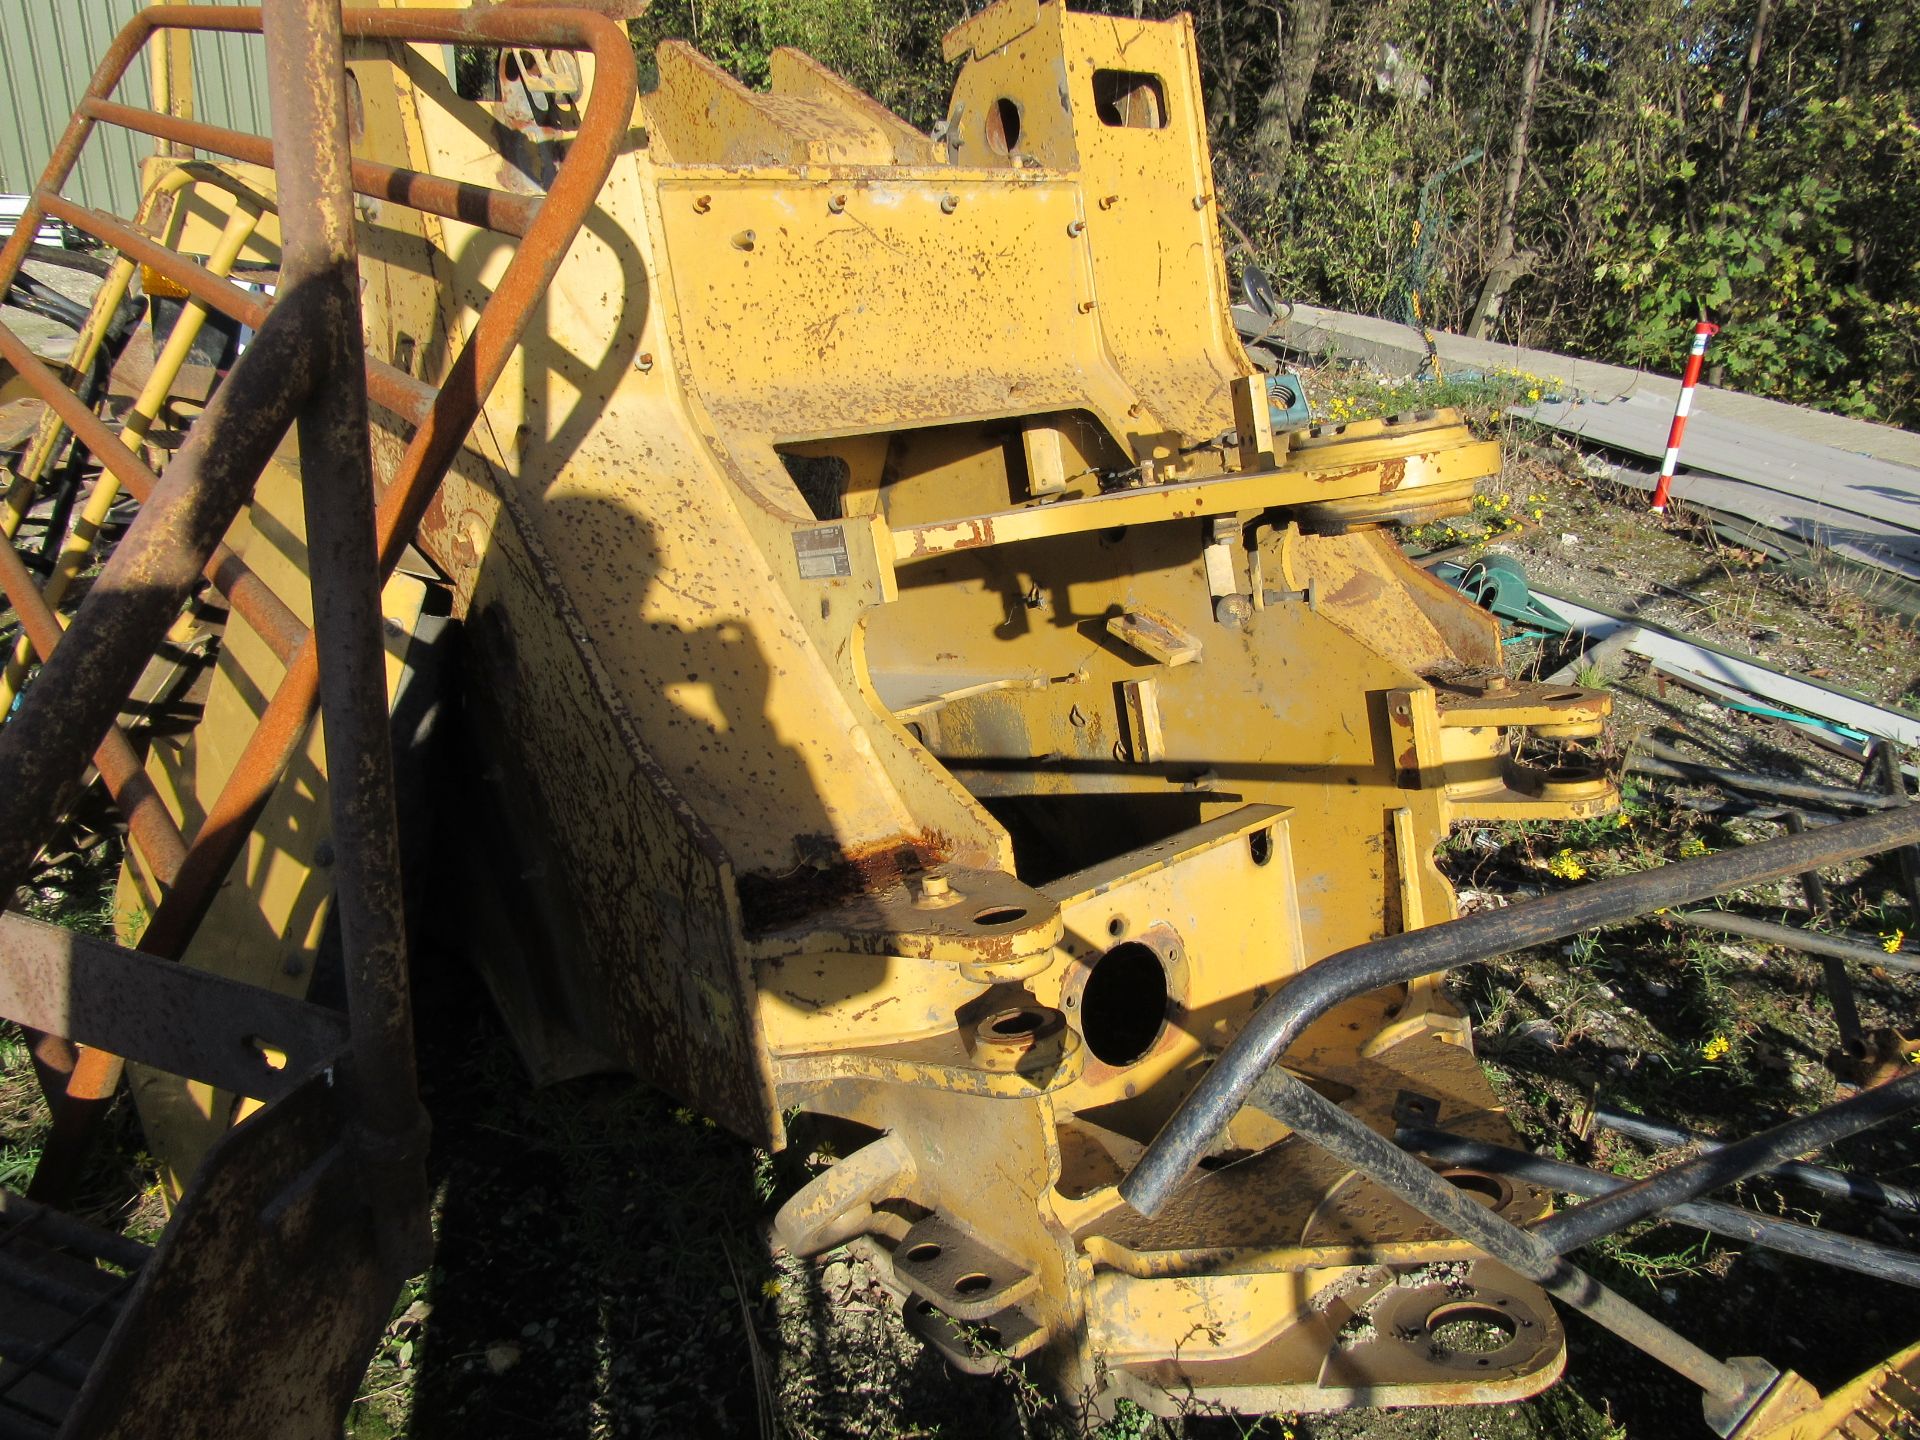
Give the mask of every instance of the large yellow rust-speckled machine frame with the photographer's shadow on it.
M 829 1137 L 783 1242 L 856 1244 L 962 1367 L 1033 1356 L 1164 1411 L 1534 1392 L 1563 1363 L 1546 1298 L 1258 1096 L 1162 1217 L 1114 1187 L 1281 981 L 1453 914 L 1453 820 L 1611 808 L 1596 774 L 1515 760 L 1609 701 L 1507 682 L 1496 622 L 1379 528 L 1465 509 L 1496 445 L 1448 413 L 1271 430 L 1187 19 L 1000 0 L 948 58 L 931 138 L 804 56 L 758 94 L 662 46 L 417 540 L 465 632 L 467 789 L 505 816 L 465 860 L 480 960 L 536 1073 L 624 1068 L 760 1144 Z M 349 69 L 361 157 L 526 194 L 593 84 L 532 52 L 499 100 L 436 48 Z M 511 240 L 359 219 L 369 351 L 445 382 Z M 205 250 L 219 215 L 186 250 L 196 225 Z M 271 505 L 242 528 L 271 536 Z M 156 756 L 169 793 L 217 781 L 248 693 L 236 670 Z M 236 881 L 284 906 L 255 885 L 275 845 Z M 1380 1125 L 1417 1091 L 1511 1135 L 1427 983 L 1288 1064 Z M 1548 1204 L 1457 1179 L 1513 1219 Z M 1503 1338 L 1419 1342 L 1436 1317 Z

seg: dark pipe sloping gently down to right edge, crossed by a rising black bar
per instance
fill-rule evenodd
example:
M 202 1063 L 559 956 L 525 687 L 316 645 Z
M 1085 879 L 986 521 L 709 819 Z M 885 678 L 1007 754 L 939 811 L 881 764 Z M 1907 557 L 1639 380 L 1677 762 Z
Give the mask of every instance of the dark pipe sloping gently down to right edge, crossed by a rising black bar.
M 1405 1148 L 1419 1150 L 1430 1160 L 1484 1169 L 1490 1175 L 1513 1175 L 1515 1179 L 1578 1194 L 1588 1200 L 1613 1194 L 1628 1185 L 1619 1175 L 1601 1175 L 1586 1165 L 1548 1160 L 1526 1150 L 1488 1144 L 1486 1140 L 1473 1140 L 1450 1131 L 1404 1127 L 1394 1133 L 1394 1140 Z M 1855 1275 L 1870 1275 L 1876 1281 L 1893 1281 L 1895 1284 L 1920 1288 L 1920 1256 L 1908 1250 L 1895 1250 L 1872 1240 L 1855 1240 L 1851 1235 L 1834 1235 L 1832 1231 L 1799 1225 L 1789 1219 L 1755 1215 L 1751 1210 L 1720 1204 L 1718 1200 L 1692 1200 L 1663 1212 L 1661 1219 L 1724 1235 L 1730 1240 L 1745 1240 L 1747 1244 L 1778 1250 L 1786 1256 L 1816 1260 L 1822 1265 L 1834 1265 Z

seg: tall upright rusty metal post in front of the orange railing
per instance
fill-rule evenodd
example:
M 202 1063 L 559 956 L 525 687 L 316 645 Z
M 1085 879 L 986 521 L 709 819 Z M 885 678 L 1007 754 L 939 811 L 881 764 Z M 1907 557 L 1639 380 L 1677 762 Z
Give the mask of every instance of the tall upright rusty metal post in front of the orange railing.
M 424 1261 L 426 1112 L 415 1079 L 394 806 L 346 46 L 338 0 L 269 0 L 263 13 L 267 71 L 278 79 L 269 92 L 273 131 L 303 140 L 300 150 L 282 146 L 275 167 L 286 296 L 275 309 L 303 292 L 321 296 L 307 342 L 324 371 L 307 390 L 298 432 L 353 1096 L 374 1200 L 388 1225 L 405 1231 L 399 1254 Z

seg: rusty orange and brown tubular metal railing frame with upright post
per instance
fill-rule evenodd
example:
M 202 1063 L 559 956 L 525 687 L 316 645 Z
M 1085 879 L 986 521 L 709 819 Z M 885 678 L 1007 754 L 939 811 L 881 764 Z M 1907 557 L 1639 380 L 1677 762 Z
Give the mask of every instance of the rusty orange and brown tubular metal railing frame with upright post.
M 300 150 L 276 154 L 261 136 L 115 102 L 127 67 L 163 31 L 261 33 L 273 129 L 301 136 Z M 348 40 L 591 52 L 593 92 L 545 196 L 353 157 Z M 217 311 L 255 330 L 156 474 L 0 326 L 0 361 L 48 407 L 35 465 L 23 465 L 0 499 L 0 589 L 40 659 L 0 722 L 0 1018 L 29 1033 L 54 1114 L 31 1198 L 0 1194 L 0 1440 L 338 1434 L 399 1281 L 430 1252 L 380 586 L 593 209 L 626 140 L 636 88 L 622 27 L 588 12 L 342 12 L 338 0 L 156 6 L 113 40 L 0 250 L 4 294 L 40 223 L 60 219 L 119 252 L 109 286 L 121 294 L 140 265 L 190 296 L 196 321 L 198 311 Z M 60 194 L 100 125 L 275 167 L 269 204 L 282 246 L 273 301 L 232 284 L 223 265 L 196 263 L 140 225 Z M 518 240 L 438 386 L 363 351 L 355 194 Z M 90 363 L 100 319 L 96 307 L 69 371 Z M 378 493 L 369 403 L 413 426 Z M 65 622 L 54 609 L 58 591 L 50 603 L 12 543 L 35 501 L 36 465 L 58 447 L 61 428 L 140 505 Z M 311 630 L 223 543 L 290 430 L 311 480 L 303 486 Z M 286 670 L 188 839 L 117 716 L 204 582 Z M 324 714 L 332 776 L 346 1014 L 175 964 L 315 710 Z M 163 887 L 138 948 L 6 914 L 88 764 Z M 121 1056 L 265 1102 L 207 1156 L 152 1254 L 56 1208 L 119 1085 Z

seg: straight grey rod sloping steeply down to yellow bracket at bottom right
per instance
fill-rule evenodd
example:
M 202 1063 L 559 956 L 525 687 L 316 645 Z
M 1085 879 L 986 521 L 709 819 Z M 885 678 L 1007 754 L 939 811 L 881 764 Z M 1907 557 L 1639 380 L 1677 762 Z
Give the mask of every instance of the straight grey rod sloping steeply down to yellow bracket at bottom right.
M 1340 1110 L 1309 1085 L 1284 1069 L 1275 1071 L 1261 1108 L 1304 1135 L 1313 1144 L 1361 1171 L 1398 1200 L 1419 1210 L 1450 1233 L 1480 1246 L 1494 1260 L 1511 1265 L 1548 1294 L 1626 1340 L 1636 1350 L 1678 1371 L 1711 1400 L 1743 1413 L 1759 1396 L 1749 1392 L 1741 1373 L 1709 1356 L 1686 1336 L 1661 1325 L 1638 1306 L 1622 1300 L 1553 1250 L 1534 1231 L 1509 1225 L 1478 1200 L 1423 1165 L 1365 1121 Z M 1601 1204 L 1601 1202 L 1594 1202 Z M 1584 1206 L 1582 1210 L 1592 1208 Z M 1578 1213 L 1578 1212 L 1576 1212 Z

